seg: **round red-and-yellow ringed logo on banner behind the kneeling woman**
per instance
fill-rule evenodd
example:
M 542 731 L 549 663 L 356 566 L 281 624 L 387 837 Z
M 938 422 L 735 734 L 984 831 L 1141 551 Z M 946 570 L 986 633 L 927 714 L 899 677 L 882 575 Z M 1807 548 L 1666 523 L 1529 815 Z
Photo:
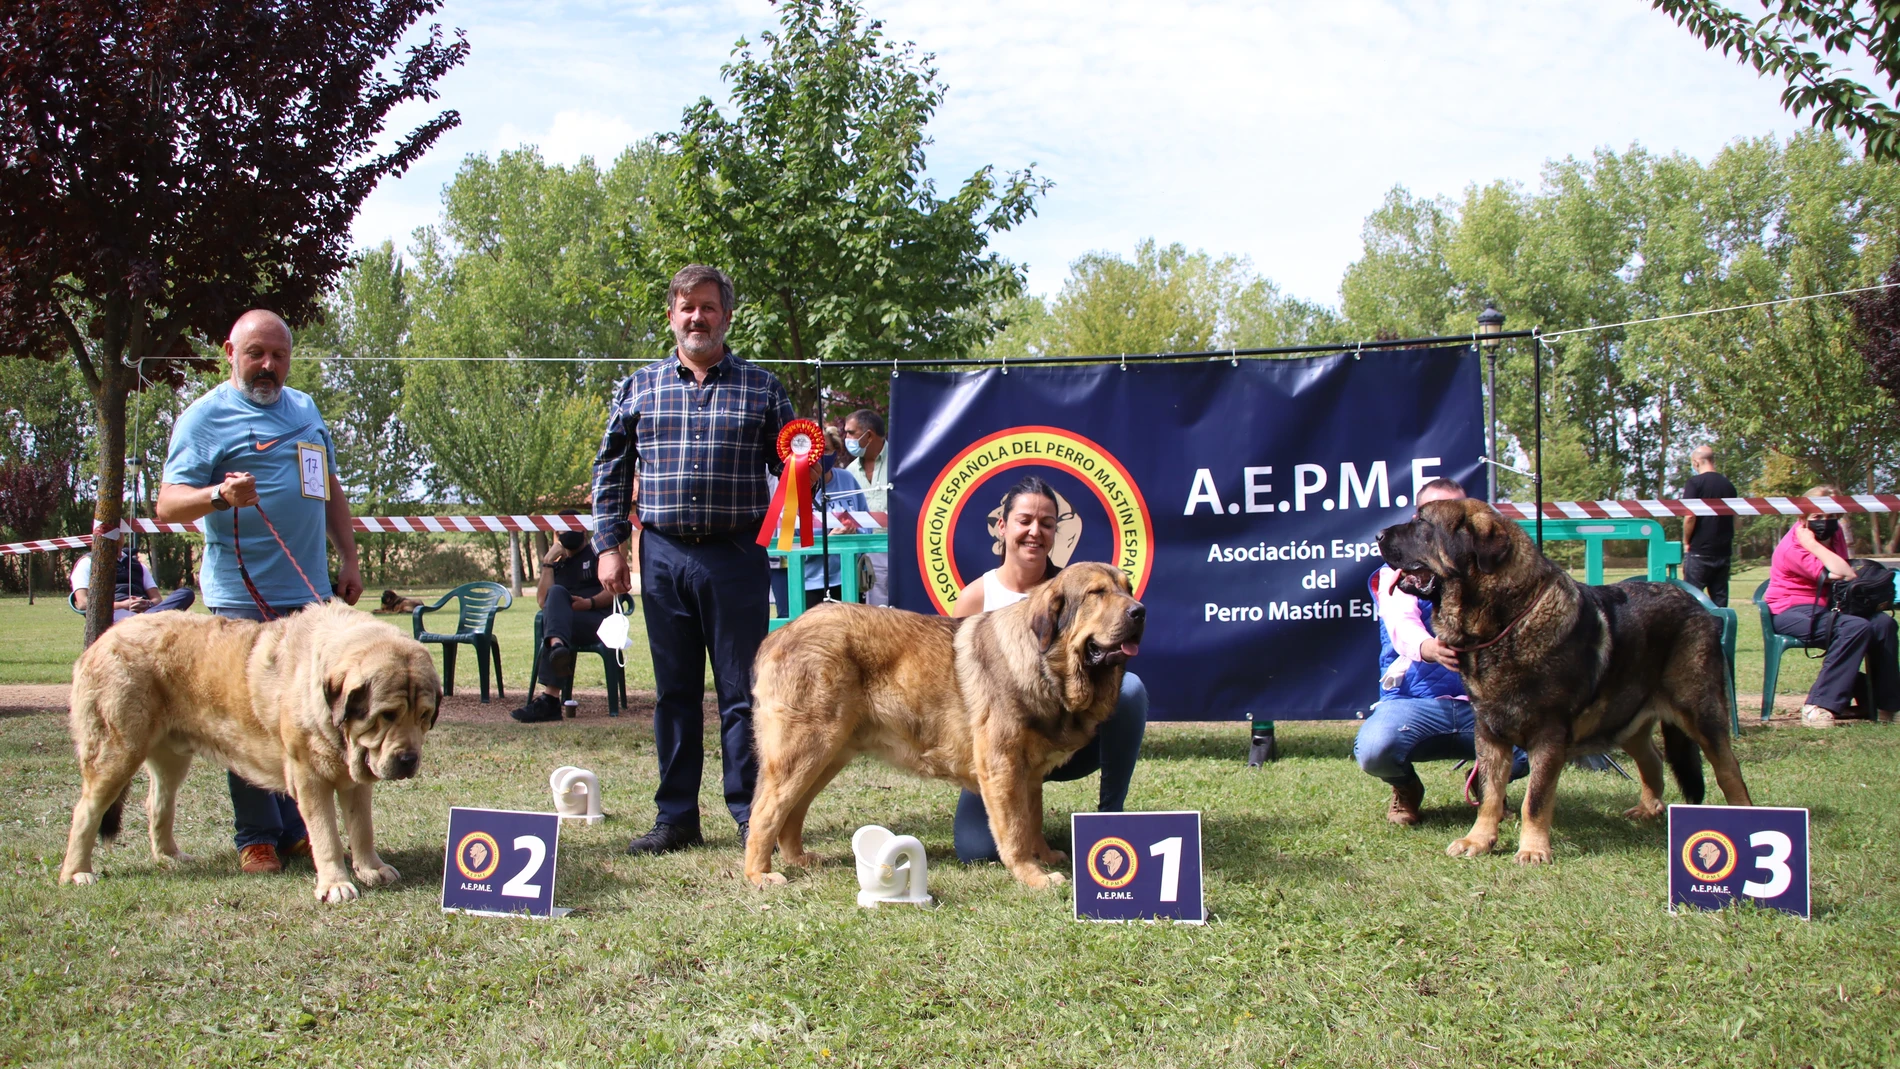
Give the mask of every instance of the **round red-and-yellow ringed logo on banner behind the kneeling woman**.
M 1148 501 L 1129 469 L 1096 442 L 1062 427 L 1009 427 L 971 442 L 950 458 L 923 501 L 918 516 L 918 570 L 937 611 L 948 615 L 965 579 L 956 566 L 956 532 L 963 507 L 990 477 L 1013 467 L 1054 467 L 1085 482 L 1108 515 L 1110 545 L 1115 564 L 1129 575 L 1134 596 L 1148 587 L 1155 566 L 1155 532 L 1148 516 Z M 1058 501 L 1056 545 L 1049 556 L 1056 566 L 1068 564 L 1068 553 L 1081 537 L 1083 516 L 1075 507 Z M 996 535 L 998 522 L 992 518 Z M 1132 854 L 1130 854 L 1132 856 Z

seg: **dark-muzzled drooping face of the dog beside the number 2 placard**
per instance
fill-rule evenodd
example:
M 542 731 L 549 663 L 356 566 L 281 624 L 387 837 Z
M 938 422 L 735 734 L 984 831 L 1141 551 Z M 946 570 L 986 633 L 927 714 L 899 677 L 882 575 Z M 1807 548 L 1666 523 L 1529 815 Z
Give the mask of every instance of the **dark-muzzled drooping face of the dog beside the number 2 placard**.
M 435 727 L 443 685 L 435 663 L 410 642 L 363 642 L 336 657 L 323 684 L 342 733 L 350 778 L 401 780 L 422 767 L 422 737 Z

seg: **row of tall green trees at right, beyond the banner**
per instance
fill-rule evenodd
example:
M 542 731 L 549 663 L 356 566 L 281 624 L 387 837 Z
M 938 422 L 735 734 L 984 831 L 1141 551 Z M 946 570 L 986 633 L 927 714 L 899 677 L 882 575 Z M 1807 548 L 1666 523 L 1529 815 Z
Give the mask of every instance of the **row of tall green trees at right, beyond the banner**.
M 1695 441 L 1744 486 L 1858 488 L 1896 459 L 1894 412 L 1866 385 L 1843 302 L 1617 325 L 1866 285 L 1896 241 L 1900 171 L 1830 135 L 1738 141 L 1706 165 L 1602 150 L 1550 163 L 1537 190 L 1493 182 L 1457 205 L 1395 190 L 1343 311 L 1358 336 L 1469 332 L 1486 296 L 1510 327 L 1604 327 L 1547 349 L 1548 497 L 1680 490 Z M 1499 422 L 1522 444 L 1530 355 L 1507 346 L 1499 382 Z

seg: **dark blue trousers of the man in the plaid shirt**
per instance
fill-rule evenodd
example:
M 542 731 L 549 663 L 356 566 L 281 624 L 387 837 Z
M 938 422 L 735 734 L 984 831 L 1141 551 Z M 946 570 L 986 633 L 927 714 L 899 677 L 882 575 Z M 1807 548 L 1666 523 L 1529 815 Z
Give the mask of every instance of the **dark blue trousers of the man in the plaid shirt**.
M 654 655 L 654 748 L 659 822 L 699 828 L 705 771 L 705 670 L 712 657 L 726 809 L 752 818 L 752 659 L 766 640 L 766 547 L 745 534 L 690 541 L 652 528 L 640 537 L 640 610 Z

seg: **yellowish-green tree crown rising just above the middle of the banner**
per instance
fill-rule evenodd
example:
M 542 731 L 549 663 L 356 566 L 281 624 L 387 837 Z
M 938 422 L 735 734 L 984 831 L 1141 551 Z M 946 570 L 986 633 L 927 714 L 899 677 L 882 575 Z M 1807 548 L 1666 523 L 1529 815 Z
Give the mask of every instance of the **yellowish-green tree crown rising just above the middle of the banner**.
M 998 306 L 996 357 L 1191 353 L 1330 338 L 1336 317 L 1288 296 L 1239 256 L 1146 239 L 1125 260 L 1089 253 L 1053 300 Z

